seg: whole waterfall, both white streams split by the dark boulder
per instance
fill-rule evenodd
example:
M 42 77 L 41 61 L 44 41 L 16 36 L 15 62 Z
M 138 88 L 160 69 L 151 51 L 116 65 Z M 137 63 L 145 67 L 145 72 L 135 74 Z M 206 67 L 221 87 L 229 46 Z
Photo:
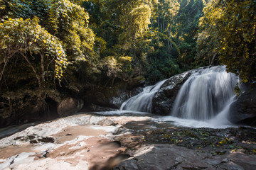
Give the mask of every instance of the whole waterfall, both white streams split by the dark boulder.
M 125 101 L 121 111 L 151 112 L 152 98 L 166 80 L 147 86 L 142 93 Z M 226 72 L 225 66 L 193 72 L 176 96 L 171 115 L 188 120 L 210 120 L 226 123 L 230 104 L 235 98 L 238 77 Z M 217 120 L 216 120 L 217 118 Z

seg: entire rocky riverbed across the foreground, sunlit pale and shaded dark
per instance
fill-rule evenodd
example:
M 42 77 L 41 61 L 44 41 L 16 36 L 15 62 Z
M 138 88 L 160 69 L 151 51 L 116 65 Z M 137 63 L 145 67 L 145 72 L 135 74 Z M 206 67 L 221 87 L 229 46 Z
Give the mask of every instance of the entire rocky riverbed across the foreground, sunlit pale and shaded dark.
M 256 130 L 152 115 L 73 115 L 0 140 L 0 169 L 255 169 Z

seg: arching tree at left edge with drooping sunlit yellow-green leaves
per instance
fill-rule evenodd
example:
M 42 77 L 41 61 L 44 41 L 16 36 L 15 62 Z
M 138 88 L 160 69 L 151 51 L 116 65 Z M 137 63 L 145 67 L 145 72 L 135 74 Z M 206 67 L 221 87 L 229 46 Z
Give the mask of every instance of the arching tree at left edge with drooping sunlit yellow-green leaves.
M 38 22 L 9 18 L 0 23 L 0 109 L 14 118 L 31 106 L 46 111 L 45 99 L 57 100 L 55 79 L 68 65 L 61 42 Z

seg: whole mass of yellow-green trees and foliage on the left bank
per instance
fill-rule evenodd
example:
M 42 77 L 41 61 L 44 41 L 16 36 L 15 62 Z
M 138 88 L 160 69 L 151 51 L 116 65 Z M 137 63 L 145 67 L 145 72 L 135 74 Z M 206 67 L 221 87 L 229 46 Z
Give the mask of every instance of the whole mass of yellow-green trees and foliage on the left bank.
M 57 91 L 56 79 L 64 78 L 60 84 L 65 85 L 76 81 L 73 74 L 78 69 L 97 71 L 98 53 L 105 45 L 100 38 L 95 41 L 84 8 L 67 0 L 3 0 L 0 7 L 0 110 L 4 113 L 27 113 L 28 106 L 44 112 L 48 98 L 59 101 L 63 95 Z M 86 68 L 81 68 L 82 62 Z M 68 67 L 70 63 L 73 67 Z

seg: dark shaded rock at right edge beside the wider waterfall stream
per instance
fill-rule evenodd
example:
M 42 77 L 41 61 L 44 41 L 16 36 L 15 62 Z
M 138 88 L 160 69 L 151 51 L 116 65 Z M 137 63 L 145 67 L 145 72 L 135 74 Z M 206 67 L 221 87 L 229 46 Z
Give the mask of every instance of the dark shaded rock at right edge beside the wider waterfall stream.
M 230 106 L 230 121 L 256 125 L 256 85 L 247 86 L 245 92 Z

